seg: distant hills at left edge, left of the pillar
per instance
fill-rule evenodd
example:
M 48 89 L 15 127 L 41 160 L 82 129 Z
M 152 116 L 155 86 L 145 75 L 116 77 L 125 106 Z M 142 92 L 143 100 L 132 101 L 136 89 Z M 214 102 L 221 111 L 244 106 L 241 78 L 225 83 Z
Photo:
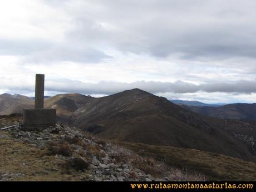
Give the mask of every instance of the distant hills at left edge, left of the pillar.
M 0 95 L 0 115 L 22 113 L 24 108 L 31 108 L 34 105 L 33 100 L 23 95 L 10 95 L 8 93 Z

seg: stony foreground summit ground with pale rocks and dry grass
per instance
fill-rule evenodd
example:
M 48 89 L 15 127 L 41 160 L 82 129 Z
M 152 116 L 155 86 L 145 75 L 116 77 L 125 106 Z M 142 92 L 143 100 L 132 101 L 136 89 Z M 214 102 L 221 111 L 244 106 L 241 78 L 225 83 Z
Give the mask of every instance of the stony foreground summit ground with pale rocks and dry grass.
M 17 121 L 17 117 L 1 117 L 0 127 Z M 1 130 L 0 153 L 0 181 L 205 180 L 203 174 L 142 157 L 66 125 L 43 131 Z

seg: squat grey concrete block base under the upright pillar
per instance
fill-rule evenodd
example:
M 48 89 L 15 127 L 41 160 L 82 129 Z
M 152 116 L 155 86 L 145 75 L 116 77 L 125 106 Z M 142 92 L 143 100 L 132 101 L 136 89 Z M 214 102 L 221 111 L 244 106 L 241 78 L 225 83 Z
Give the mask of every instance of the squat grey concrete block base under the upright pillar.
M 42 130 L 56 125 L 55 109 L 23 109 L 23 126 L 26 130 Z

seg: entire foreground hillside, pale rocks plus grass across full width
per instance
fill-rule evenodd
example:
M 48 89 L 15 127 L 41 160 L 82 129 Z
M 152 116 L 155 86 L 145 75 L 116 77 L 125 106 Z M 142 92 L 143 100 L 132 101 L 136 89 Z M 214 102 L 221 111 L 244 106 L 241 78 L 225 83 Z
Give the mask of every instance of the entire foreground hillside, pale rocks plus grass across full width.
M 0 126 L 16 116 L 0 118 Z M 57 125 L 0 131 L 0 181 L 256 180 L 256 164 L 212 152 L 101 140 Z

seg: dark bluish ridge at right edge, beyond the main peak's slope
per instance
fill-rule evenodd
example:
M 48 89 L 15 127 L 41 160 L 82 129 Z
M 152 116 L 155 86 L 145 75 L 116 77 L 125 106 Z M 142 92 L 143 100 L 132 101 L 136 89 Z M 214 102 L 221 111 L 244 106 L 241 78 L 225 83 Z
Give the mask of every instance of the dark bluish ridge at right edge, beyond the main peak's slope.
M 196 107 L 183 105 L 187 110 L 219 119 L 238 119 L 256 121 L 256 104 L 229 104 L 219 107 Z

